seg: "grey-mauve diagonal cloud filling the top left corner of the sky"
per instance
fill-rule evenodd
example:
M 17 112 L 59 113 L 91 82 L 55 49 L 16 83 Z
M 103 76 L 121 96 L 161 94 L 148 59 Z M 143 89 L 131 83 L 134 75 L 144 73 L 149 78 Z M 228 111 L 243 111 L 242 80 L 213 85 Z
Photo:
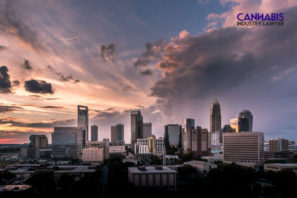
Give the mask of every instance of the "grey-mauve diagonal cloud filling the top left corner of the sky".
M 29 25 L 25 12 L 17 9 L 17 1 L 0 1 L 0 31 L 12 35 L 34 49 L 47 51 L 37 31 Z

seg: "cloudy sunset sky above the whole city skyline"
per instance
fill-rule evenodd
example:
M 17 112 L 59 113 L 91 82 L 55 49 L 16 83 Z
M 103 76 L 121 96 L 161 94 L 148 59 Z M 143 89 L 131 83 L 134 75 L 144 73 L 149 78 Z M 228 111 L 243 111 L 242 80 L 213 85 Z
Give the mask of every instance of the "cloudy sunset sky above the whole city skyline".
M 140 110 L 152 134 L 195 119 L 222 127 L 244 109 L 265 140 L 297 137 L 297 1 L 1 1 L 0 144 L 77 126 L 99 140 Z M 284 13 L 283 26 L 237 26 L 238 13 Z M 90 137 L 90 134 L 89 134 Z

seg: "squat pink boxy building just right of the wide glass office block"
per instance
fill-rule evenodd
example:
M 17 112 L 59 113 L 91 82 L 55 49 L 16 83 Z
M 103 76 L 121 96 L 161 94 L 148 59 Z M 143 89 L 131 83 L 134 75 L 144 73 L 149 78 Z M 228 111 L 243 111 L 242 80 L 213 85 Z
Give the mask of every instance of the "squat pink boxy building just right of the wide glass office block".
M 98 147 L 83 149 L 83 164 L 102 164 L 103 160 L 103 149 L 98 149 Z

